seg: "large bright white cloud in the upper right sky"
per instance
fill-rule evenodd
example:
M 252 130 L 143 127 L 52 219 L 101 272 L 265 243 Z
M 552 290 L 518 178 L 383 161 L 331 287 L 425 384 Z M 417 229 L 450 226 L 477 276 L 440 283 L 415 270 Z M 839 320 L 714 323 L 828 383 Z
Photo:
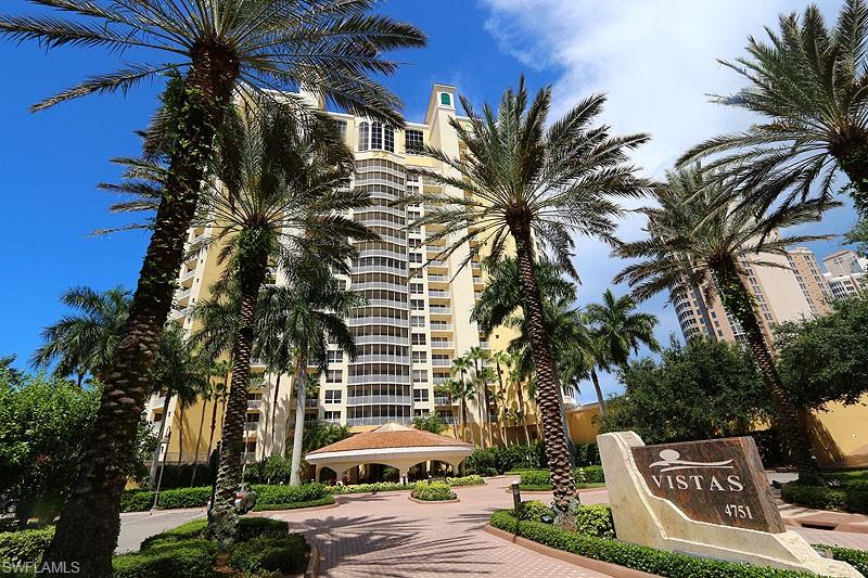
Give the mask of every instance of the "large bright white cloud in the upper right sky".
M 486 29 L 500 49 L 534 70 L 554 70 L 554 115 L 591 92 L 605 92 L 603 119 L 615 133 L 648 132 L 651 142 L 635 162 L 662 177 L 686 149 L 750 121 L 744 113 L 709 103 L 710 93 L 743 86 L 717 59 L 744 53 L 750 35 L 777 27 L 780 13 L 802 11 L 800 0 L 480 0 L 489 10 Z M 833 15 L 839 2 L 822 0 Z M 640 234 L 643 222 L 630 218 L 625 239 Z M 580 301 L 599 298 L 623 262 L 609 258 L 596 242 L 580 241 L 576 264 L 583 279 Z M 661 341 L 679 332 L 664 298 L 643 309 L 658 313 Z M 614 378 L 605 388 L 617 388 Z M 590 387 L 582 399 L 590 400 Z

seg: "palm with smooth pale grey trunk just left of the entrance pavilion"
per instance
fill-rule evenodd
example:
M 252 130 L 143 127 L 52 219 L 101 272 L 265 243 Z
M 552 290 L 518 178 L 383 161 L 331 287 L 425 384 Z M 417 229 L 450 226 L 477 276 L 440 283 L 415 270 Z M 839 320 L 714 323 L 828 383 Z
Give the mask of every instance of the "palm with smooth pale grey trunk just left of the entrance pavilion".
M 352 310 L 365 305 L 359 293 L 346 291 L 328 269 L 310 266 L 294 275 L 294 282 L 284 287 L 267 287 L 261 325 L 275 324 L 294 344 L 295 371 L 295 428 L 292 446 L 290 485 L 302 483 L 301 467 L 305 401 L 307 398 L 307 368 L 329 365 L 329 343 L 334 343 L 349 359 L 356 357 L 356 343 L 345 319 Z

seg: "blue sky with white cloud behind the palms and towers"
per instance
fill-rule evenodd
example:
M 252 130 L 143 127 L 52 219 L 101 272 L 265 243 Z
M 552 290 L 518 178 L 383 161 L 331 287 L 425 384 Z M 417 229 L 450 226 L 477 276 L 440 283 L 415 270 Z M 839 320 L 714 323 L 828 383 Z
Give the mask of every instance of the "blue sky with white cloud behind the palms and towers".
M 423 116 L 433 82 L 455 85 L 475 103 L 496 102 L 524 72 L 534 88 L 554 85 L 554 107 L 561 112 L 588 92 L 605 91 L 605 120 L 616 131 L 652 133 L 652 143 L 636 160 L 660 176 L 684 147 L 749 120 L 706 103 L 706 93 L 739 86 L 715 57 L 739 55 L 748 35 L 774 24 L 778 13 L 804 5 L 792 0 L 712 5 L 691 0 L 441 0 L 432 10 L 429 2 L 391 0 L 383 10 L 424 29 L 430 46 L 397 54 L 406 64 L 386 84 L 401 97 L 411 120 Z M 831 15 L 838 2 L 820 5 Z M 36 9 L 25 0 L 4 0 L 0 10 L 21 14 Z M 123 222 L 106 213 L 112 197 L 95 183 L 117 179 L 112 157 L 138 154 L 133 131 L 146 124 L 161 86 L 30 114 L 29 104 L 87 74 L 112 69 L 117 56 L 99 49 L 46 53 L 30 43 L 0 41 L 0 191 L 5 208 L 0 228 L 0 355 L 15 354 L 23 365 L 40 343 L 41 327 L 63 313 L 58 303 L 63 290 L 133 286 L 144 235 L 88 235 Z M 839 209 L 812 230 L 842 232 L 850 221 L 851 211 Z M 623 235 L 636 236 L 641 224 L 638 217 L 627 219 Z M 837 246 L 829 242 L 812 248 L 821 257 Z M 579 242 L 576 262 L 584 282 L 582 303 L 598 298 L 621 266 L 604 247 L 586 241 Z M 643 309 L 660 316 L 661 339 L 678 331 L 662 299 Z M 614 380 L 608 377 L 604 388 L 616 389 Z M 580 398 L 592 399 L 591 388 L 584 389 Z

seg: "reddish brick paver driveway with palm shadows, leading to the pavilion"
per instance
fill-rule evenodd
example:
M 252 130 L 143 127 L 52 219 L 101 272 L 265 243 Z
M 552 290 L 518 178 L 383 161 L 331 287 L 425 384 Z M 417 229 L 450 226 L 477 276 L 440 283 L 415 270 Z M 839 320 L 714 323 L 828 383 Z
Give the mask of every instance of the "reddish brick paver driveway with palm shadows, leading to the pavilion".
M 483 531 L 493 511 L 511 506 L 509 483 L 489 478 L 483 487 L 455 488 L 459 503 L 418 504 L 408 500 L 407 492 L 391 492 L 341 497 L 341 505 L 331 510 L 270 515 L 288 521 L 319 548 L 320 576 L 605 576 Z

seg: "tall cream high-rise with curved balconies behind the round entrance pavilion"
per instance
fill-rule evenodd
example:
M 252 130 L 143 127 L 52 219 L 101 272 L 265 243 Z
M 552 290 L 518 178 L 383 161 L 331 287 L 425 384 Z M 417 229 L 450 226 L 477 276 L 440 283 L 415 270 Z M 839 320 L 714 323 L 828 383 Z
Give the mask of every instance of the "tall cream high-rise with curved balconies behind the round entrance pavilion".
M 471 309 L 484 288 L 484 273 L 477 258 L 459 269 L 469 255 L 470 244 L 464 243 L 444 258 L 439 254 L 446 247 L 445 241 L 426 242 L 437 226 L 407 228 L 424 214 L 425 207 L 392 205 L 405 194 L 421 190 L 442 192 L 439 184 L 410 174 L 412 167 L 443 170 L 439 162 L 420 154 L 423 145 L 435 146 L 454 157 L 465 154 L 449 126 L 450 118 L 462 119 L 456 115 L 455 102 L 454 87 L 434 85 L 424 120 L 408 123 L 406 129 L 331 113 L 347 146 L 355 151 L 353 184 L 368 191 L 372 198 L 370 206 L 355 210 L 352 217 L 379 233 L 381 240 L 358 243 L 350 274 L 339 275 L 345 286 L 367 298 L 367 305 L 353 311 L 347 320 L 356 337 L 358 356 L 350 361 L 336 347 L 330 350 L 328 371 L 319 376 L 319 386 L 307 399 L 307 421 L 323 420 L 346 424 L 353 431 L 366 431 L 390 422 L 408 423 L 414 416 L 436 412 L 446 423 L 455 423 L 459 406 L 435 389 L 451 376 L 452 360 L 472 347 L 502 349 L 513 336 L 509 330 L 498 330 L 489 343 L 470 320 Z M 205 233 L 191 231 L 190 242 Z M 220 274 L 216 253 L 212 249 L 191 258 L 180 273 L 171 318 L 188 331 L 197 325 L 192 306 L 207 298 L 208 287 Z M 270 281 L 285 282 L 280 271 L 275 271 Z M 277 389 L 277 375 L 261 361 L 255 360 L 252 369 L 259 373 L 261 385 L 252 384 L 250 390 L 245 435 L 250 458 L 261 459 L 272 449 L 279 451 L 285 447 L 294 422 L 292 380 L 283 375 Z M 506 395 L 500 403 L 516 408 L 515 393 L 502 394 Z M 572 398 L 564 401 L 575 403 Z M 203 421 L 216 423 L 214 439 L 219 439 L 225 410 L 221 400 L 201 399 L 183 410 L 176 408 L 175 400 L 169 408 L 163 408 L 162 403 L 162 398 L 155 396 L 146 411 L 153 422 L 162 420 L 166 410 L 165 414 L 171 419 L 169 461 L 192 461 L 196 450 L 200 457 L 207 453 L 212 442 L 209 427 L 202 426 Z M 477 434 L 481 422 L 497 423 L 502 416 L 497 408 L 496 403 L 488 403 L 481 409 L 474 400 L 469 401 L 469 421 Z M 526 396 L 522 413 L 532 424 L 532 436 L 536 436 L 535 408 Z M 513 439 L 524 435 L 521 422 L 511 422 L 507 429 L 512 431 L 508 436 Z M 450 427 L 445 434 L 451 432 Z

